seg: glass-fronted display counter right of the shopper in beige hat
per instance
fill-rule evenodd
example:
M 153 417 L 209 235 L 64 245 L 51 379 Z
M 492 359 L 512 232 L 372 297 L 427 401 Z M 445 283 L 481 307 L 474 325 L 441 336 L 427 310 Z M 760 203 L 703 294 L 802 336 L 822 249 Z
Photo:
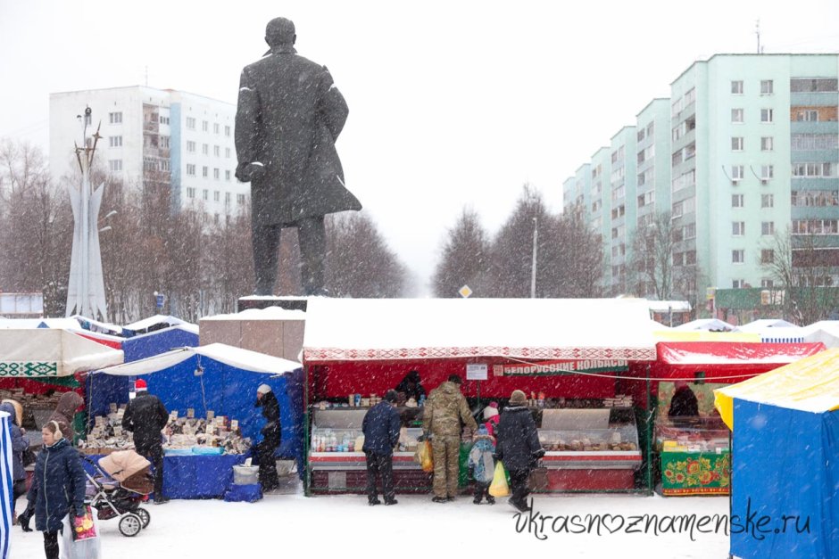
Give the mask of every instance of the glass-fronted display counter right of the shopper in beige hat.
M 630 407 L 532 409 L 545 450 L 544 468 L 531 477 L 534 490 L 635 488 L 641 450 Z

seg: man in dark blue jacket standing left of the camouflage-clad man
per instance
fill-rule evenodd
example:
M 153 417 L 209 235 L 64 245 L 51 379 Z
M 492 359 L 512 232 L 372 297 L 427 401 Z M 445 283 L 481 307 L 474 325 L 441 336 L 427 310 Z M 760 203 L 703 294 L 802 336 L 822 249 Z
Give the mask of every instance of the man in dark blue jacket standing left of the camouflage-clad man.
M 378 505 L 376 477 L 382 478 L 385 505 L 395 505 L 394 447 L 399 442 L 400 419 L 396 411 L 396 390 L 387 390 L 385 399 L 364 415 L 361 431 L 364 432 L 364 456 L 367 458 L 367 501 Z

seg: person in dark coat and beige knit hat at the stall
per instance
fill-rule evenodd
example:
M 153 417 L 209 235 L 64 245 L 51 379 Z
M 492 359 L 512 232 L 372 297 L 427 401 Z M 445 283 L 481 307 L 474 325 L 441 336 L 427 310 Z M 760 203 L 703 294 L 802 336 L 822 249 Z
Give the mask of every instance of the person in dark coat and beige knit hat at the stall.
M 498 440 L 495 456 L 510 473 L 510 504 L 526 513 L 530 510 L 527 506 L 527 495 L 530 493 L 527 480 L 536 463 L 544 456 L 544 448 L 539 444 L 536 423 L 527 409 L 527 396 L 521 390 L 513 390 L 510 405 L 501 413 L 495 434 Z

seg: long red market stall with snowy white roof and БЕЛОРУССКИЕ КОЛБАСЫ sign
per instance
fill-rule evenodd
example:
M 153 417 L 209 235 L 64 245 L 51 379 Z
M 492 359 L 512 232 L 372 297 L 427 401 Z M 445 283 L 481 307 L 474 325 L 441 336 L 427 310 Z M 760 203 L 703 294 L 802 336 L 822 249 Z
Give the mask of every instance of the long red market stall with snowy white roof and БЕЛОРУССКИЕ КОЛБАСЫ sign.
M 530 395 L 549 448 L 544 470 L 531 479 L 535 489 L 635 489 L 643 449 L 632 403 L 619 398 L 615 374 L 630 361 L 654 357 L 645 300 L 311 300 L 303 341 L 306 489 L 363 490 L 364 459 L 353 434 L 366 408 L 411 370 L 429 391 L 460 374 L 476 412 L 489 399 L 505 401 L 512 390 Z M 361 396 L 357 410 L 353 394 Z M 428 491 L 429 474 L 412 461 L 419 414 L 407 409 L 395 484 L 400 491 Z M 353 450 L 342 438 L 337 449 L 322 451 L 326 428 L 350 430 Z

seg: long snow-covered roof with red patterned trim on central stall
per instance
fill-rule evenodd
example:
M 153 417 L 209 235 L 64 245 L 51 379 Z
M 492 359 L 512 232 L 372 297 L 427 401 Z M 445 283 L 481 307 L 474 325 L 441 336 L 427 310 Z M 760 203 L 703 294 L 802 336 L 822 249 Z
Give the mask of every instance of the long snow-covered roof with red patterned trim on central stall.
M 307 362 L 655 359 L 646 300 L 329 299 L 306 309 Z

